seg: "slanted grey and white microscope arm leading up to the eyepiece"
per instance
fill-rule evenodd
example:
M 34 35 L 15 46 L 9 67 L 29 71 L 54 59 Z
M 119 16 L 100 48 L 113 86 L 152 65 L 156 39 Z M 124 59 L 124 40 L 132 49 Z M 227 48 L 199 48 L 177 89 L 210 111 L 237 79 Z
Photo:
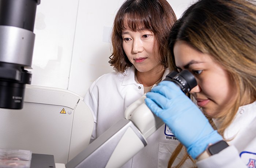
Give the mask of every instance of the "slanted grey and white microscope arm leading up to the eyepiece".
M 119 168 L 147 145 L 146 138 L 163 122 L 144 103 L 132 103 L 121 119 L 66 164 L 66 168 Z

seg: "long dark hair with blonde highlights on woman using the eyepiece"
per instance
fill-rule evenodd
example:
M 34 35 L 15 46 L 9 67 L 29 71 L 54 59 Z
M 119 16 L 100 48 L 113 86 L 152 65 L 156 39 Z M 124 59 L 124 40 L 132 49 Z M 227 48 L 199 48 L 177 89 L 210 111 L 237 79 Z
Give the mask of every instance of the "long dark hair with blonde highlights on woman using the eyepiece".
M 191 5 L 174 24 L 166 44 L 172 68 L 175 68 L 173 46 L 178 40 L 210 54 L 236 84 L 234 103 L 225 114 L 217 116 L 221 123 L 218 132 L 223 135 L 238 108 L 256 100 L 255 1 L 199 0 Z

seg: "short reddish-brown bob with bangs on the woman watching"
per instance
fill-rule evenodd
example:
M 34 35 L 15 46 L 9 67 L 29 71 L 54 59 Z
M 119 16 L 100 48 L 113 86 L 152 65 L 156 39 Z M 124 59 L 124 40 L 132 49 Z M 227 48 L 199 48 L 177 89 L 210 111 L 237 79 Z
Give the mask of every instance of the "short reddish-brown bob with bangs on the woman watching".
M 127 0 L 118 10 L 112 30 L 112 55 L 110 65 L 116 72 L 122 72 L 132 66 L 123 50 L 122 30 L 130 28 L 133 31 L 150 30 L 155 35 L 155 42 L 159 46 L 161 64 L 168 68 L 164 46 L 176 15 L 166 0 Z M 128 25 L 128 27 L 125 27 Z M 155 47 L 154 47 L 155 48 Z

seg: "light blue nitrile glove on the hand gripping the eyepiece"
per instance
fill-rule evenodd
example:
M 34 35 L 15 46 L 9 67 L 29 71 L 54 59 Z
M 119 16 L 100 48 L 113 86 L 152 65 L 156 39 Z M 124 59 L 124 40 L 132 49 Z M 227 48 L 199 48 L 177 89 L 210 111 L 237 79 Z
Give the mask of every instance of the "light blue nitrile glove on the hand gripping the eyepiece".
M 209 144 L 222 140 L 202 111 L 173 82 L 162 81 L 146 96 L 148 108 L 166 123 L 193 159 Z

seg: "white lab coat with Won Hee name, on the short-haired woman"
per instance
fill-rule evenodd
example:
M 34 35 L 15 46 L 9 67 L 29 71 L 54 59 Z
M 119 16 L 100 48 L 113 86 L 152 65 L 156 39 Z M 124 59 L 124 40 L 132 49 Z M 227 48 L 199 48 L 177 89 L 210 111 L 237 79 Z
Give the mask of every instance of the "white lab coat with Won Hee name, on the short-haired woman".
M 163 79 L 168 73 L 169 70 L 165 70 Z M 84 102 L 93 113 L 94 122 L 97 123 L 93 137 L 98 137 L 119 119 L 124 118 L 126 108 L 141 98 L 143 93 L 143 85 L 135 81 L 134 66 L 128 68 L 125 75 L 112 72 L 95 80 L 84 98 Z M 170 152 L 179 143 L 170 129 L 166 125 L 161 126 L 147 138 L 147 141 L 148 145 L 129 160 L 123 168 L 167 167 Z

